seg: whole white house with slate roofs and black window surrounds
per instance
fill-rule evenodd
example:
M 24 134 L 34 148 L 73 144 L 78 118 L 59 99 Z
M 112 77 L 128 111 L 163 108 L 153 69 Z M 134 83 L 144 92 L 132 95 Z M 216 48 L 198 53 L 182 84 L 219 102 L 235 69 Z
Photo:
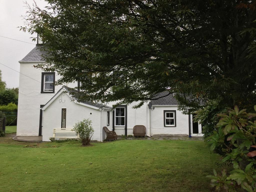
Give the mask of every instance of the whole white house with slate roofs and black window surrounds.
M 37 44 L 20 63 L 17 136 L 42 136 L 50 141 L 53 130 L 71 130 L 82 119 L 92 120 L 94 140 L 103 141 L 106 136 L 103 126 L 118 135 L 132 135 L 135 125 L 144 125 L 148 136 L 202 136 L 201 125 L 193 123 L 193 115 L 178 111 L 178 102 L 173 94 L 152 100 L 149 109 L 145 103 L 139 109 L 131 105 L 108 106 L 88 101 L 76 101 L 70 92 L 78 82 L 55 86 L 60 77 L 56 72 L 43 72 L 33 66 L 45 63 Z M 79 91 L 77 91 L 79 92 Z M 167 94 L 160 93 L 160 97 Z M 151 105 L 150 105 L 151 106 Z M 65 132 L 65 131 L 63 131 Z M 56 137 L 74 136 L 74 133 L 58 133 Z

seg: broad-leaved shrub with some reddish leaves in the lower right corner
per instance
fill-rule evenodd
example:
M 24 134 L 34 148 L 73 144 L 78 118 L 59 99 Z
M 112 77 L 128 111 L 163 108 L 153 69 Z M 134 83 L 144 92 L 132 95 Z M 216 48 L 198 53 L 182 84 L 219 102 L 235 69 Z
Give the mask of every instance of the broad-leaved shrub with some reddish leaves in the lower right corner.
M 209 176 L 211 186 L 221 191 L 235 191 L 236 187 L 256 191 L 256 113 L 247 113 L 246 109 L 240 111 L 235 106 L 228 114 L 219 116 L 218 132 L 214 131 L 206 141 L 211 151 L 222 148 L 225 153 L 222 162 L 232 162 L 233 170 L 229 174 L 214 171 L 214 175 Z

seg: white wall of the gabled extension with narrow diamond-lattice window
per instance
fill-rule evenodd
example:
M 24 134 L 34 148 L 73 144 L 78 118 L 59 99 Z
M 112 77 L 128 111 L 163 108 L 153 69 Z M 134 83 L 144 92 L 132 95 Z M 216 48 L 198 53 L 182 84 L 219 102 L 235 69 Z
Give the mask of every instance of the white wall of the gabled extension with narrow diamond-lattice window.
M 62 102 L 59 102 L 60 99 Z M 43 123 L 42 123 L 42 135 L 43 141 L 50 141 L 49 137 L 52 137 L 53 129 L 61 129 L 61 109 L 66 108 L 66 129 L 72 129 L 73 125 L 83 119 L 90 119 L 92 121 L 92 127 L 94 129 L 93 140 L 101 141 L 102 127 L 106 126 L 106 111 L 102 112 L 101 123 L 101 111 L 92 109 L 87 106 L 83 106 L 73 102 L 67 93 L 59 95 L 44 111 L 43 111 Z M 92 113 L 92 114 L 90 114 Z M 105 133 L 104 133 L 105 134 Z M 73 133 L 66 135 L 66 133 L 58 133 L 56 136 L 75 136 Z

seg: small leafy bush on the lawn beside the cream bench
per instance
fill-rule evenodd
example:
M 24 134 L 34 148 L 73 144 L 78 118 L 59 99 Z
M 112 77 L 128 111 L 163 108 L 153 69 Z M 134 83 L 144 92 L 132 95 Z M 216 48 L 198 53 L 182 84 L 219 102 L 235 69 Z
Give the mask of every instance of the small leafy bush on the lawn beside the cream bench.
M 89 119 L 83 119 L 83 121 L 80 121 L 76 123 L 73 126 L 72 131 L 76 133 L 79 140 L 81 140 L 82 145 L 90 145 L 92 142 L 92 136 L 93 136 L 93 128 L 92 128 L 92 121 Z

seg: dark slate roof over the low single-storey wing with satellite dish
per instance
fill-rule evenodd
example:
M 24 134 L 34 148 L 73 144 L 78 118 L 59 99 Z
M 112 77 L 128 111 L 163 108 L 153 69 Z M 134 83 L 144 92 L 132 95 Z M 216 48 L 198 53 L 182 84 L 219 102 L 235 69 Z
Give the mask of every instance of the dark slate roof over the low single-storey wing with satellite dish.
M 173 97 L 173 93 L 169 94 L 166 97 L 163 97 L 167 95 L 169 91 L 163 91 L 161 93 L 158 93 L 154 98 L 159 98 L 157 100 L 151 100 L 152 105 L 179 105 L 179 102 Z

